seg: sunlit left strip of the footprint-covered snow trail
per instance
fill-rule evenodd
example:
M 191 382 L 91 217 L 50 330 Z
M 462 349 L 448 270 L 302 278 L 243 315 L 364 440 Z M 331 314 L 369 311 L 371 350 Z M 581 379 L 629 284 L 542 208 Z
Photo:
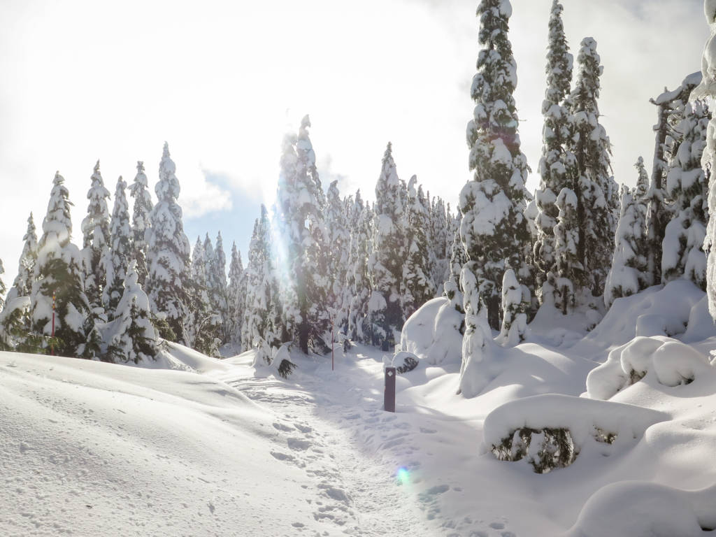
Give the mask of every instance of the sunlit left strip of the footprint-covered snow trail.
M 412 505 L 397 483 L 395 471 L 360 450 L 351 437 L 362 413 L 345 412 L 344 405 L 326 410 L 328 401 L 324 397 L 316 400 L 311 395 L 316 393 L 313 387 L 302 391 L 291 384 L 261 378 L 229 382 L 251 400 L 276 412 L 276 449 L 271 455 L 303 469 L 313 483 L 314 498 L 306 500 L 312 520 L 296 521 L 296 535 L 435 535 L 435 528 L 425 524 L 422 505 Z M 368 419 L 377 421 L 384 414 L 370 412 Z M 387 417 L 388 421 L 394 418 Z M 338 425 L 344 421 L 355 423 Z M 402 436 L 387 441 L 395 442 Z

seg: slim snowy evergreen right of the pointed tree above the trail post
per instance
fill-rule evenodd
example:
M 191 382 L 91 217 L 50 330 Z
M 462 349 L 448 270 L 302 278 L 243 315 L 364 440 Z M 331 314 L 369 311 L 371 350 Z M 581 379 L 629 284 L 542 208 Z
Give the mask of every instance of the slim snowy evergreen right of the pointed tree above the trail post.
M 405 212 L 405 238 L 407 251 L 402 266 L 402 314 L 410 317 L 416 309 L 435 296 L 430 278 L 430 216 L 425 209 L 422 187 L 416 188 L 417 178 L 410 178 L 407 185 L 407 210 Z

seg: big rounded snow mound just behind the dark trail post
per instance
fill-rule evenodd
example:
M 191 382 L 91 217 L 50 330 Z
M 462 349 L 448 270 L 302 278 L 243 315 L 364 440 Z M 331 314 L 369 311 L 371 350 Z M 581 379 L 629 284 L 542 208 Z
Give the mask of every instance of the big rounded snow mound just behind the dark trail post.
M 428 364 L 459 364 L 463 359 L 460 326 L 464 318 L 449 299 L 429 300 L 405 321 L 400 350 L 412 352 Z

